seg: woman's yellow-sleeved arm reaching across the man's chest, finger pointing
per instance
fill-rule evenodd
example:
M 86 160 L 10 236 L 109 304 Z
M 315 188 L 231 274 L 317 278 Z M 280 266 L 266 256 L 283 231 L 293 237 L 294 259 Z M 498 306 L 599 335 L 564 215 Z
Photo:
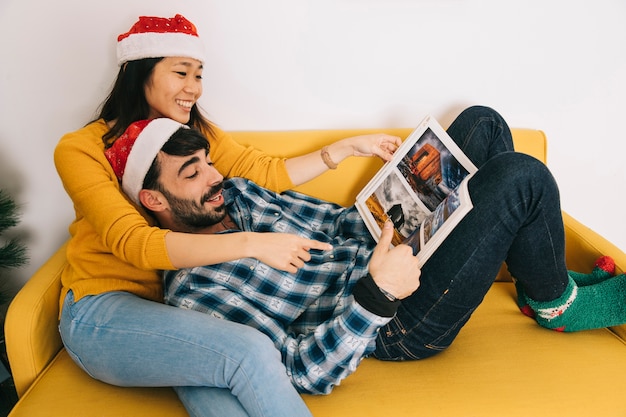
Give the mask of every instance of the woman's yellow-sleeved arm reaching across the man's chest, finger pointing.
M 151 225 L 126 199 L 104 156 L 102 122 L 65 135 L 55 149 L 55 165 L 74 203 L 76 222 L 89 229 L 86 251 L 109 251 L 139 269 L 175 269 L 254 257 L 277 269 L 295 271 L 309 249 L 327 244 L 295 235 L 174 233 Z M 167 254 L 167 256 L 164 256 Z

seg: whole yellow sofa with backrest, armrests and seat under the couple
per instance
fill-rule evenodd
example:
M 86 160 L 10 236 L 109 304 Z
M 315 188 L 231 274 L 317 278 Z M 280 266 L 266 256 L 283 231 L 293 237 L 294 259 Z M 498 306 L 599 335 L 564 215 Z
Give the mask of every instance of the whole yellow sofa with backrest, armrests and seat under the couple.
M 410 129 L 387 130 L 406 137 Z M 370 130 L 235 132 L 242 143 L 289 156 Z M 539 130 L 515 129 L 515 146 L 546 161 Z M 349 205 L 380 162 L 352 158 L 300 188 Z M 565 214 L 567 262 L 589 271 L 626 254 Z M 6 340 L 19 401 L 10 417 L 186 416 L 170 388 L 120 388 L 87 376 L 70 360 L 57 330 L 61 247 L 26 283 L 6 319 Z M 322 416 L 625 416 L 626 326 L 563 334 L 543 329 L 516 307 L 502 271 L 455 343 L 423 361 L 366 359 L 331 395 L 305 396 Z M 225 416 L 227 417 L 227 416 Z

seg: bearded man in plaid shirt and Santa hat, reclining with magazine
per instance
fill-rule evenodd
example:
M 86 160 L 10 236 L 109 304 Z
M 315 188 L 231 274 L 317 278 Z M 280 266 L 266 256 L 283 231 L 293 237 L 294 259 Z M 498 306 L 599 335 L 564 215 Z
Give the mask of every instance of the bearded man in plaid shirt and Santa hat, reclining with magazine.
M 481 111 L 502 125 L 497 113 Z M 299 254 L 295 273 L 251 258 L 165 273 L 167 303 L 258 328 L 281 351 L 301 392 L 329 393 L 368 355 L 410 360 L 445 349 L 504 260 L 519 281 L 520 307 L 541 325 L 574 331 L 626 321 L 623 297 L 610 295 L 626 288 L 623 275 L 606 280 L 610 274 L 594 271 L 602 282 L 588 286 L 573 278 L 586 276 L 568 275 L 556 185 L 539 161 L 494 151 L 511 146 L 508 128 L 474 138 L 489 155 L 465 149 L 480 167 L 470 181 L 474 209 L 420 271 L 408 246 L 389 249 L 391 225 L 376 245 L 354 207 L 276 194 L 240 178 L 223 181 L 200 133 L 167 119 L 148 126 L 146 138 L 134 129 L 130 144 L 118 140 L 107 156 L 126 161 L 119 155 L 130 149 L 118 175 L 122 187 L 162 227 L 293 233 L 332 245 Z M 137 146 L 148 139 L 149 146 Z M 611 289 L 599 287 L 607 283 Z

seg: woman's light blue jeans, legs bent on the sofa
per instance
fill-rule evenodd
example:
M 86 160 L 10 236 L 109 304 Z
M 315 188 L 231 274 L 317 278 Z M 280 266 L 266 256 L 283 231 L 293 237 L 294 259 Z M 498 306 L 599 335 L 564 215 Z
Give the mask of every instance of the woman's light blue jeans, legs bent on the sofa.
M 74 361 L 118 386 L 174 387 L 191 416 L 310 416 L 280 353 L 251 327 L 126 292 L 70 292 L 59 325 Z

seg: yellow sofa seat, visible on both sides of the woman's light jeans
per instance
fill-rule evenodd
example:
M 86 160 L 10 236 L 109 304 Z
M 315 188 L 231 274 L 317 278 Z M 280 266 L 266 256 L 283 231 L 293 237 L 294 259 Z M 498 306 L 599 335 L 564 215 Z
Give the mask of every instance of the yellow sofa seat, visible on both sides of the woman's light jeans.
M 316 417 L 602 416 L 626 414 L 626 346 L 609 329 L 564 334 L 515 306 L 494 284 L 454 344 L 430 359 L 365 359 L 328 396 L 304 396 Z M 62 350 L 10 417 L 186 416 L 170 388 L 95 381 Z

